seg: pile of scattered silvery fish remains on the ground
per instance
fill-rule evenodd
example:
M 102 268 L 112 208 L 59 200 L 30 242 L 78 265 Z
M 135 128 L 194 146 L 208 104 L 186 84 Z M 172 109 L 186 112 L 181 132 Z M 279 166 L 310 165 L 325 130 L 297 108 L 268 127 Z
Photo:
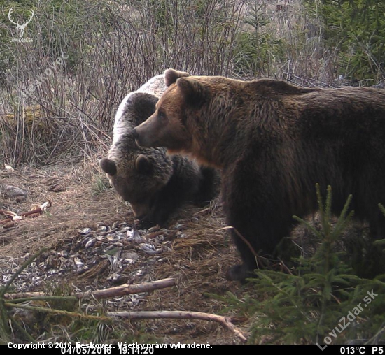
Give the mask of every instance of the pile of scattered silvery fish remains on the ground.
M 135 229 L 125 222 L 112 226 L 97 224 L 97 229 L 84 228 L 78 235 L 64 240 L 55 250 L 38 256 L 13 281 L 13 291 L 44 291 L 47 284 L 88 280 L 86 289 L 139 283 L 149 280 L 148 271 L 164 260 L 172 249 L 174 238 L 183 238 L 183 225 L 173 229 Z M 0 261 L 1 285 L 10 280 L 22 263 L 31 257 Z M 131 298 L 138 297 L 130 295 Z

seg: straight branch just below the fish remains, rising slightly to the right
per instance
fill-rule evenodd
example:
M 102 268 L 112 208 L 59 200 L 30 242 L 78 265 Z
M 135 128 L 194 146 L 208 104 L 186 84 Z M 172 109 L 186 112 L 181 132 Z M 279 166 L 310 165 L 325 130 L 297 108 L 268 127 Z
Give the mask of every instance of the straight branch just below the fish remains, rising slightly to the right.
M 175 280 L 172 278 L 163 279 L 158 281 L 146 282 L 144 284 L 122 284 L 117 287 L 111 287 L 109 289 L 90 291 L 90 292 L 78 292 L 74 294 L 76 298 L 94 297 L 111 298 L 124 296 L 129 294 L 140 294 L 141 292 L 154 291 L 156 289 L 165 289 L 166 287 L 172 287 L 175 285 Z M 15 299 L 20 297 L 41 297 L 44 296 L 41 292 L 25 292 L 22 294 L 6 294 L 5 298 Z

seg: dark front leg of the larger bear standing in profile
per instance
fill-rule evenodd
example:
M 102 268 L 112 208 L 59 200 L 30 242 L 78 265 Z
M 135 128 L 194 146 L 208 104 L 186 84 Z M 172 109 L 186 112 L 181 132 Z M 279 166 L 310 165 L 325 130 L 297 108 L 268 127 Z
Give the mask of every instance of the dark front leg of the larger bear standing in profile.
M 227 273 L 229 280 L 244 280 L 257 268 L 257 255 L 271 257 L 280 240 L 295 224 L 293 208 L 274 171 L 253 171 L 250 164 L 223 171 L 223 208 L 242 264 Z M 271 168 L 271 166 L 269 166 Z M 274 177 L 272 179 L 272 176 Z M 274 184 L 273 184 L 274 181 Z

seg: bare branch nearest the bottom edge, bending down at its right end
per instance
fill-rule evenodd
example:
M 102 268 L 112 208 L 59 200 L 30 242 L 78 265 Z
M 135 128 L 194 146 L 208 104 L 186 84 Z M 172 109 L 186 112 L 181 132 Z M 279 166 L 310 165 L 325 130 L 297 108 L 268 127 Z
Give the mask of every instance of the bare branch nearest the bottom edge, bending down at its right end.
M 188 312 L 188 311 L 142 311 L 142 312 L 106 312 L 110 317 L 123 317 L 130 319 L 154 319 L 154 318 L 172 318 L 172 319 L 200 319 L 203 321 L 216 321 L 228 330 L 235 333 L 239 339 L 246 342 L 246 337 L 241 331 L 232 324 L 234 318 L 218 316 L 217 314 Z

